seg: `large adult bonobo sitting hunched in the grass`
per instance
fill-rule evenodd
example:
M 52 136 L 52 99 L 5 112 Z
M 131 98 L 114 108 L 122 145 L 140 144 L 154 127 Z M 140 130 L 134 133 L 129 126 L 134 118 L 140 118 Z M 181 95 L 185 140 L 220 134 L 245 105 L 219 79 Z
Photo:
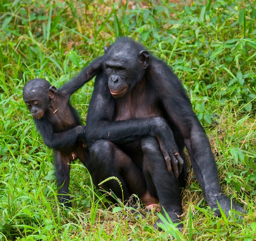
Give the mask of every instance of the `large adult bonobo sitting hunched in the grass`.
M 179 222 L 185 146 L 208 205 L 220 214 L 218 202 L 227 213 L 231 201 L 221 193 L 211 146 L 177 76 L 128 38 L 119 38 L 105 52 L 86 121 L 88 169 L 94 183 L 117 176 L 124 199 L 137 193 L 150 207 L 159 200 L 171 219 Z M 121 198 L 115 181 L 103 188 Z

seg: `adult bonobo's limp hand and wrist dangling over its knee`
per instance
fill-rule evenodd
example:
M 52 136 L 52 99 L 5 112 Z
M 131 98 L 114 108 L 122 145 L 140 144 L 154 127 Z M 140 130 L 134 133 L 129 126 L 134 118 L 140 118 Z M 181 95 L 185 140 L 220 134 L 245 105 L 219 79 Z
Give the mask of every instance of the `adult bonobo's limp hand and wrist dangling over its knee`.
M 155 137 L 159 141 L 160 149 L 164 155 L 168 172 L 173 169 L 175 177 L 182 172 L 183 159 L 181 158 L 173 132 L 163 118 L 156 117 L 157 133 Z

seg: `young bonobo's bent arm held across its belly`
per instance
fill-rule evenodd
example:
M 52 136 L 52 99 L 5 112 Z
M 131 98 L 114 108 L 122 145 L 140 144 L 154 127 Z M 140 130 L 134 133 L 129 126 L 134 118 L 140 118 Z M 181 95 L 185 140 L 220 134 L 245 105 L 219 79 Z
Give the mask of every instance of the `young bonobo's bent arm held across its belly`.
M 67 131 L 54 133 L 52 124 L 45 117 L 40 120 L 34 118 L 34 121 L 45 145 L 50 148 L 58 149 L 59 147 L 74 145 L 79 137 L 85 139 L 85 127 L 82 125 Z

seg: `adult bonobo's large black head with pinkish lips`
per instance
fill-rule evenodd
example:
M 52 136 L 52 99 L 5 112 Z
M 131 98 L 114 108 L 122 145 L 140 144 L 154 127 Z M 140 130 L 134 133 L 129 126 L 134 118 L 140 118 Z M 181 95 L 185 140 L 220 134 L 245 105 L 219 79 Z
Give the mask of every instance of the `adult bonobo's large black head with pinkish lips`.
M 121 37 L 105 47 L 104 67 L 108 75 L 108 87 L 115 98 L 125 96 L 144 76 L 150 54 L 133 40 Z

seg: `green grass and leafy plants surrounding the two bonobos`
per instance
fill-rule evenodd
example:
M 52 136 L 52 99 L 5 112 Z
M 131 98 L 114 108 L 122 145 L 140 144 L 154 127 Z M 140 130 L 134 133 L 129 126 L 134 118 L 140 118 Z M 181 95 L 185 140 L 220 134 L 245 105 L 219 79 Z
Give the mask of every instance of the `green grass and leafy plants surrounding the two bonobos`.
M 0 0 L 0 240 L 256 240 L 256 2 Z M 176 1 L 177 2 L 177 1 Z M 207 207 L 189 166 L 184 229 L 134 219 L 106 202 L 78 161 L 73 208 L 58 205 L 52 150 L 22 100 L 31 78 L 56 87 L 126 35 L 173 67 L 210 138 L 223 192 L 244 205 L 238 220 Z M 90 81 L 72 96 L 85 123 Z

